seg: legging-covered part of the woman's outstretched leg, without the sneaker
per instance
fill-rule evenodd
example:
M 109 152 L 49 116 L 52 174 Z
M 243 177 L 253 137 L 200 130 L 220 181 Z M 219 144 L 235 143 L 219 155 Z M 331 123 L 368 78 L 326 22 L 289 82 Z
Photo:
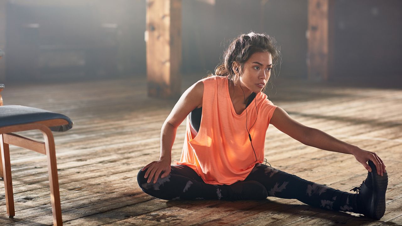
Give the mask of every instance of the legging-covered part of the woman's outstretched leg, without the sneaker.
M 308 205 L 328 210 L 361 213 L 357 194 L 320 185 L 264 164 L 256 164 L 245 179 L 263 184 L 269 196 L 297 199 Z

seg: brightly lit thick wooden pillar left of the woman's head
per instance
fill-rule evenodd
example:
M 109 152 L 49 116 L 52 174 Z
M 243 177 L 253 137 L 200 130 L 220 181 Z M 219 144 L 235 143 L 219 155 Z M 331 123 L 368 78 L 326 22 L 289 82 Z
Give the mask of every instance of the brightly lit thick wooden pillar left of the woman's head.
M 148 96 L 180 96 L 181 0 L 148 0 L 146 6 Z

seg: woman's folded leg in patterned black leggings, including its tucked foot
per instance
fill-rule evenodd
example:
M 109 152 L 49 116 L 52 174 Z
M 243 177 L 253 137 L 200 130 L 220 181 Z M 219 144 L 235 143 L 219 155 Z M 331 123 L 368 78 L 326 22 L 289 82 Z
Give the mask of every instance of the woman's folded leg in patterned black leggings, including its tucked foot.
M 158 178 L 156 183 L 147 182 L 146 171 L 139 171 L 137 181 L 139 187 L 148 195 L 165 199 L 265 199 L 265 186 L 256 181 L 238 181 L 232 185 L 207 184 L 189 166 L 171 165 L 170 174 Z

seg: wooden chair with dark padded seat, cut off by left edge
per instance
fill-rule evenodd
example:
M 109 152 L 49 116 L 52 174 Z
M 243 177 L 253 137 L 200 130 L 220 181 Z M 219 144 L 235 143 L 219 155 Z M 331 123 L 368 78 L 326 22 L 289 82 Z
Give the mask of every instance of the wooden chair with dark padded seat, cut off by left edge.
M 0 84 L 0 92 L 3 89 L 4 85 Z M 12 144 L 47 156 L 53 224 L 63 224 L 62 210 L 60 207 L 59 181 L 57 178 L 55 145 L 51 131 L 67 131 L 72 128 L 72 125 L 73 122 L 67 116 L 62 114 L 19 105 L 3 106 L 3 100 L 0 94 L 0 147 L 2 158 L 0 163 L 0 177 L 4 179 L 7 215 L 9 218 L 13 218 L 15 215 L 10 151 L 8 148 L 8 145 Z M 44 142 L 13 134 L 14 132 L 34 129 L 42 132 L 45 138 Z

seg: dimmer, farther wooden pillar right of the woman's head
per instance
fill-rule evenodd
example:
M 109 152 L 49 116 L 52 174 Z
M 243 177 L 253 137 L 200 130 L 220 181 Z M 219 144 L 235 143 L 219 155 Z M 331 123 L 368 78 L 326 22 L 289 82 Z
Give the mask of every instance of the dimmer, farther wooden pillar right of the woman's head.
M 334 55 L 334 0 L 308 0 L 309 80 L 328 80 Z

